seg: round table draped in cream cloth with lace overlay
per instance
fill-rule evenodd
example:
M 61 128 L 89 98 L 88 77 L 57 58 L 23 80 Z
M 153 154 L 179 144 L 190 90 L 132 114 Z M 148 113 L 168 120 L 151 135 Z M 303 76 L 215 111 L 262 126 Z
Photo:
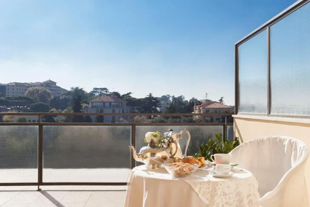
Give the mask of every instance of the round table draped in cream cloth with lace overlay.
M 211 169 L 198 169 L 191 176 L 172 178 L 165 169 L 131 170 L 125 207 L 258 207 L 258 183 L 252 173 L 235 168 L 230 178 L 215 178 Z

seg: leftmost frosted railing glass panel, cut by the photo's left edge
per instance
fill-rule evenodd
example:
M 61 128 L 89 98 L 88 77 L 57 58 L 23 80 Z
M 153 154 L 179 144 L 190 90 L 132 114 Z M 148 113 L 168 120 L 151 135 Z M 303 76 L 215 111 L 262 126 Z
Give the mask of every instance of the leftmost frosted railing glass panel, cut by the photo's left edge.
M 38 182 L 38 126 L 0 126 L 0 182 Z

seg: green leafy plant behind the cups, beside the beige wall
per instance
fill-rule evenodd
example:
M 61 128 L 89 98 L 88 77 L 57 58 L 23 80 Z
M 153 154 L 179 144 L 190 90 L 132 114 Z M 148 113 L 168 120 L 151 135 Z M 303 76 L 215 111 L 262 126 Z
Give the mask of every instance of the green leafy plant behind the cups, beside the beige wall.
M 239 140 L 235 137 L 233 142 L 228 140 L 223 141 L 222 133 L 215 134 L 215 139 L 209 139 L 206 144 L 199 145 L 199 152 L 193 155 L 194 157 L 205 157 L 206 160 L 211 160 L 211 155 L 217 153 L 227 154 L 239 145 Z

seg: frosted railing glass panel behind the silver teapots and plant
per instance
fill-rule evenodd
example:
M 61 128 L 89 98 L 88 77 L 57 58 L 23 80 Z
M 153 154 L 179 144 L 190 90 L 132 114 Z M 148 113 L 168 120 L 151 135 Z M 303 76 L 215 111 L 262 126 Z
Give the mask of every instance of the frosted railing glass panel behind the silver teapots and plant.
M 214 138 L 216 133 L 222 133 L 222 126 L 136 126 L 135 130 L 135 141 L 136 141 L 136 151 L 146 146 L 147 143 L 144 142 L 145 134 L 147 132 L 168 132 L 170 127 L 174 132 L 181 132 L 186 128 L 191 135 L 191 141 L 188 146 L 187 155 L 193 155 L 198 152 L 198 146 L 201 143 L 206 143 L 208 139 Z M 183 154 L 185 153 L 185 146 L 187 143 L 187 134 L 182 134 L 182 139 L 179 140 L 181 150 Z M 136 165 L 141 165 L 141 162 L 136 162 Z

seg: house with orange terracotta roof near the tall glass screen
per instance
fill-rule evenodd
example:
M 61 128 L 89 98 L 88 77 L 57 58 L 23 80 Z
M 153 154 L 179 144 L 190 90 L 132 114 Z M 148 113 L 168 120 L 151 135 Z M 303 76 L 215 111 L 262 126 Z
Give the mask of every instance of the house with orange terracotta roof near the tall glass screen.
M 208 122 L 218 123 L 221 120 L 221 116 L 216 115 L 219 113 L 232 113 L 233 109 L 231 106 L 227 106 L 225 104 L 221 104 L 216 101 L 206 101 L 201 105 L 194 106 L 193 113 L 211 113 L 214 115 L 206 115 L 206 116 L 195 116 L 195 119 L 203 119 Z

